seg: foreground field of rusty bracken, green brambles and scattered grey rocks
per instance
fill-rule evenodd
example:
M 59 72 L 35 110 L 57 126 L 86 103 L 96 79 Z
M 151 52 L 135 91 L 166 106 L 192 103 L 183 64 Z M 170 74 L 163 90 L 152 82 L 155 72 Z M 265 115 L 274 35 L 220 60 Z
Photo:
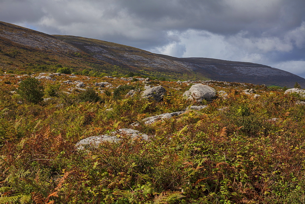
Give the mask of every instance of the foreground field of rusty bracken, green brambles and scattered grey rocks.
M 0 79 L 0 203 L 305 202 L 302 89 Z

